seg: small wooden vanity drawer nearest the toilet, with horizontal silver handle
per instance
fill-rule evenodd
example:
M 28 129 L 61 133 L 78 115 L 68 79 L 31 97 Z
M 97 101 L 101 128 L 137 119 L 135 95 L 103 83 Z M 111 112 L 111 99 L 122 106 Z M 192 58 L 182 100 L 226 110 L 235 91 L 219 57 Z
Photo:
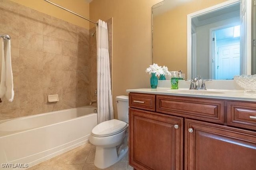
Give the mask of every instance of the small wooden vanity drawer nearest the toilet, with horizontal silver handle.
M 156 111 L 156 96 L 142 93 L 129 93 L 129 106 L 147 111 Z

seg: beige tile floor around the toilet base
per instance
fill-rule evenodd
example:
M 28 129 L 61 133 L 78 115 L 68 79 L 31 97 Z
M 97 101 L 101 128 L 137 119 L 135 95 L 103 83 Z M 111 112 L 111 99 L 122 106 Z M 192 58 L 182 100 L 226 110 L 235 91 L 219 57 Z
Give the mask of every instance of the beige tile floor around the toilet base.
M 32 166 L 27 170 L 100 170 L 94 166 L 96 147 L 90 142 Z M 128 154 L 106 170 L 133 170 Z

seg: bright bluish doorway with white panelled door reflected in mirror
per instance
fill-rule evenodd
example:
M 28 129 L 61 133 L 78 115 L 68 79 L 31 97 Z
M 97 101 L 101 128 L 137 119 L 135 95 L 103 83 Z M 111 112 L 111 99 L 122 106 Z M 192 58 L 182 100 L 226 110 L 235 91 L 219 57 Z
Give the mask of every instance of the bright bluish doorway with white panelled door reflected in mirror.
M 240 75 L 242 56 L 240 54 L 240 25 L 224 26 L 210 30 L 210 67 L 213 79 L 233 79 Z

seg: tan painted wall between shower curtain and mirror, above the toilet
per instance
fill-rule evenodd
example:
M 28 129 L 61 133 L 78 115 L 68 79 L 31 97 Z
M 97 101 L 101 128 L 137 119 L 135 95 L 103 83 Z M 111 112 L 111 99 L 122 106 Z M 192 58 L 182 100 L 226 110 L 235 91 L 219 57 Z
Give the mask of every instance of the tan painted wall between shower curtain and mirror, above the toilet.
M 94 0 L 91 20 L 113 17 L 113 100 L 126 89 L 150 87 L 145 72 L 152 64 L 151 7 L 161 0 Z M 114 103 L 117 118 L 116 102 Z

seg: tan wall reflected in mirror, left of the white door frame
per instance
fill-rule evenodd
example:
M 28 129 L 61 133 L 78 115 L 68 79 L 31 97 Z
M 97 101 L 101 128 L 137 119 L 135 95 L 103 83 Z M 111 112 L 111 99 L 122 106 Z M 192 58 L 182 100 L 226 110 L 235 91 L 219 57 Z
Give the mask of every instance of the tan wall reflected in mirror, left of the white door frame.
M 154 63 L 187 73 L 187 15 L 226 0 L 190 0 L 154 17 Z

